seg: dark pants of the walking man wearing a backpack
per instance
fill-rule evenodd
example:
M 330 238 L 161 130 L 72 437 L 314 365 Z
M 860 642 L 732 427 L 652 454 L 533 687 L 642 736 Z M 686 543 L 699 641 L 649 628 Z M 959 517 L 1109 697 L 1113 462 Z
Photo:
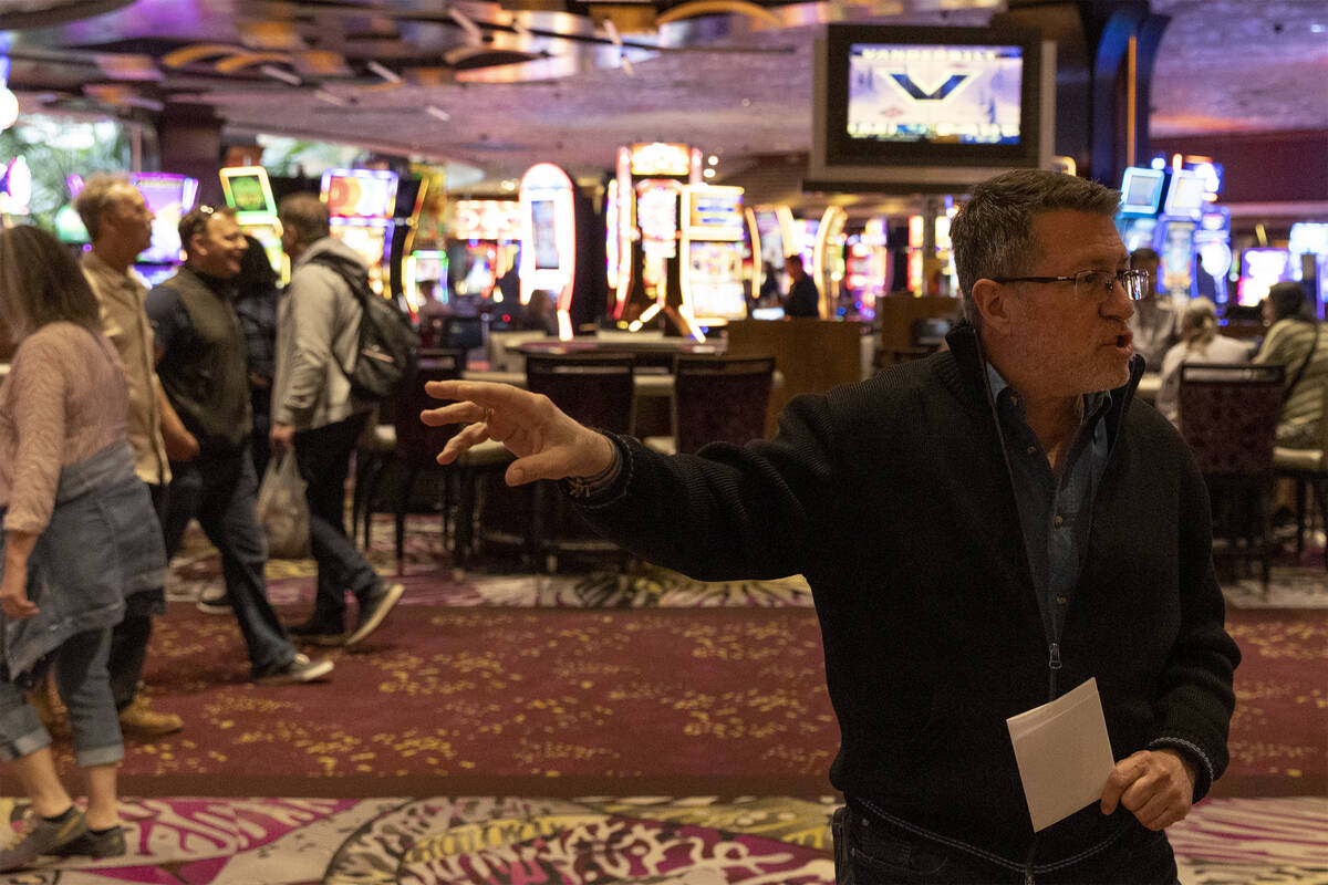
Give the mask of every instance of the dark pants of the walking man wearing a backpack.
M 345 628 L 345 592 L 363 604 L 378 584 L 378 576 L 345 533 L 345 478 L 368 417 L 360 413 L 295 434 L 295 459 L 309 503 L 309 548 L 319 564 L 313 618 L 333 632 Z

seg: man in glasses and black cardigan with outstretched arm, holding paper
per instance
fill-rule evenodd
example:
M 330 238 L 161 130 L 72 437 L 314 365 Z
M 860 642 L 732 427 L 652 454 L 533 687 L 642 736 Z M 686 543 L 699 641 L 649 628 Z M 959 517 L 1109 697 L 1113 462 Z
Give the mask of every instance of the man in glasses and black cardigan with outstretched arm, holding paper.
M 515 387 L 440 382 L 507 482 L 705 580 L 806 576 L 841 730 L 839 882 L 1177 881 L 1165 828 L 1227 764 L 1239 650 L 1185 442 L 1133 403 L 1145 280 L 1117 191 L 1025 170 L 955 218 L 968 322 L 928 360 L 794 399 L 773 441 L 660 456 Z M 843 525 L 870 525 L 875 543 Z M 1116 767 L 1033 831 L 1005 719 L 1096 678 Z M 1065 754 L 1077 752 L 1066 747 Z

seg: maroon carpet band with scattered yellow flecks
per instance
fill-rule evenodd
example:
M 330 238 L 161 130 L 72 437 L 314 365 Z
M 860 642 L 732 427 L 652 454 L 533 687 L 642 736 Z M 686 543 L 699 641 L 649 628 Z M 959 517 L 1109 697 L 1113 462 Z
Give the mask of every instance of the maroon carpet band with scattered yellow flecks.
M 1230 618 L 1246 661 L 1232 763 L 1215 795 L 1324 795 L 1328 612 Z M 124 791 L 817 797 L 829 788 L 838 730 L 806 609 L 402 605 L 363 647 L 332 655 L 327 683 L 254 686 L 231 618 L 173 604 L 147 683 L 186 728 L 131 743 Z

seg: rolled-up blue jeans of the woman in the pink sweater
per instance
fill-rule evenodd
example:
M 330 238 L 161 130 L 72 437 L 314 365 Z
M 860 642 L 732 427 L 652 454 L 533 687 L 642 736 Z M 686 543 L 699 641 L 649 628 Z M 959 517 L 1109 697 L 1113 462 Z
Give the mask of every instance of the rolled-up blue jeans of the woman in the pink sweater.
M 69 709 L 74 755 L 85 768 L 109 766 L 125 758 L 106 671 L 109 654 L 108 626 L 76 633 L 53 655 L 56 685 Z M 0 681 L 0 760 L 12 762 L 48 746 L 50 735 L 24 693 L 12 682 Z

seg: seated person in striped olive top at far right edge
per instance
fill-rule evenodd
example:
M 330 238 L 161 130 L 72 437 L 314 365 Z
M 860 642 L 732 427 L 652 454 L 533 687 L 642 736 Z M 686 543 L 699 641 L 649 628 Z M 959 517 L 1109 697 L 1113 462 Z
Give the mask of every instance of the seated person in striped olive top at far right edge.
M 1328 326 L 1315 318 L 1304 288 L 1289 280 L 1268 289 L 1264 316 L 1272 326 L 1254 361 L 1287 368 L 1278 444 L 1317 448 L 1328 383 Z

